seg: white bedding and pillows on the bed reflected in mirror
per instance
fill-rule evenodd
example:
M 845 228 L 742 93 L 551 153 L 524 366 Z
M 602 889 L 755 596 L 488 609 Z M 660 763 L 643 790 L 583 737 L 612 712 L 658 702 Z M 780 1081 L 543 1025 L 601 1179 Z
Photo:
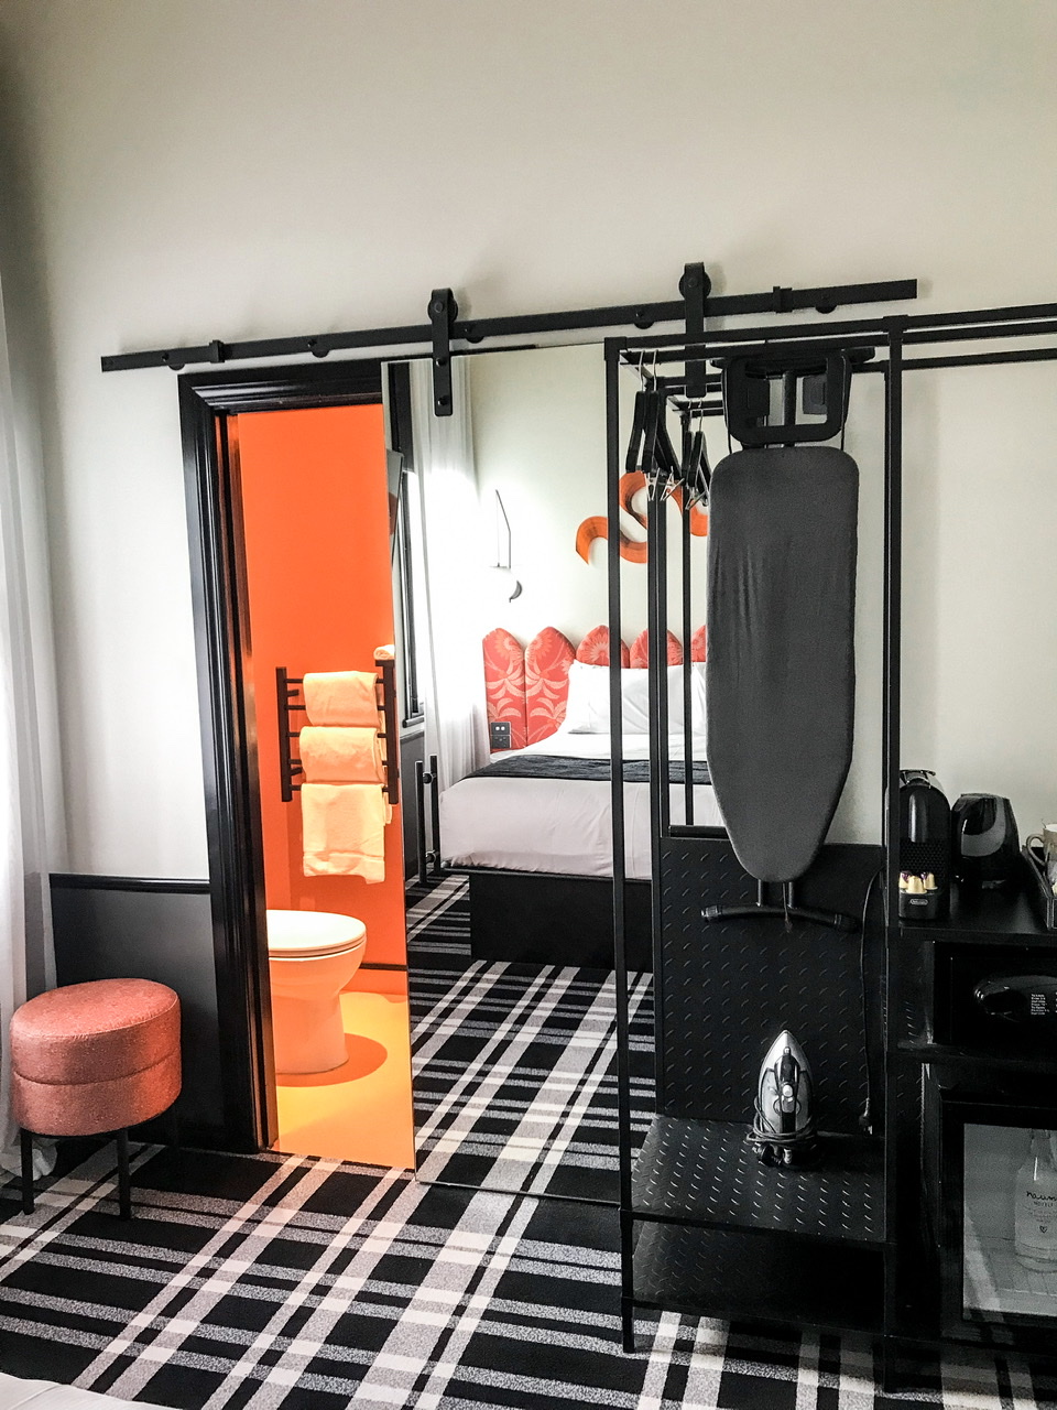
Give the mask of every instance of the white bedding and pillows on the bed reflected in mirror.
M 648 759 L 648 735 L 624 735 L 624 759 Z M 682 759 L 682 735 L 668 742 L 669 756 Z M 609 735 L 558 730 L 527 749 L 505 753 L 607 759 Z M 705 740 L 695 739 L 692 757 L 705 759 Z M 682 784 L 671 787 L 672 822 L 685 821 Z M 455 867 L 502 867 L 512 871 L 555 871 L 562 876 L 612 877 L 613 830 L 610 785 L 581 778 L 462 778 L 440 797 L 441 850 Z M 693 822 L 723 826 L 709 784 L 693 785 Z M 650 785 L 624 784 L 624 866 L 636 880 L 650 878 Z

